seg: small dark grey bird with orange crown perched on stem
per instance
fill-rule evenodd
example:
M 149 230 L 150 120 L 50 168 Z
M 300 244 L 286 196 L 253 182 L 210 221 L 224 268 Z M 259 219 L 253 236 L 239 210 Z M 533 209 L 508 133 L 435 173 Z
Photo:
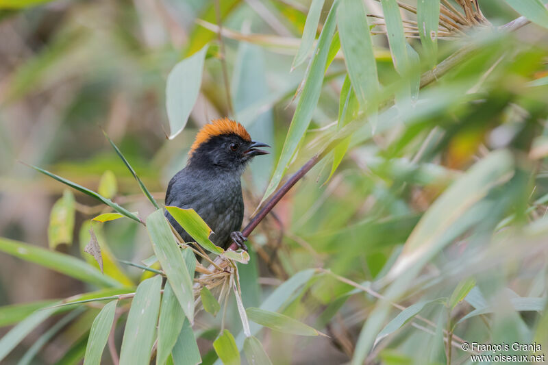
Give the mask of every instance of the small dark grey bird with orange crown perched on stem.
M 245 166 L 256 155 L 270 147 L 251 140 L 245 128 L 228 118 L 216 119 L 200 129 L 190 147 L 186 167 L 169 181 L 166 205 L 192 208 L 208 223 L 214 244 L 227 249 L 232 241 L 247 250 L 246 237 L 240 232 L 244 218 L 244 201 L 240 177 Z M 186 231 L 166 217 L 185 242 L 191 242 Z

